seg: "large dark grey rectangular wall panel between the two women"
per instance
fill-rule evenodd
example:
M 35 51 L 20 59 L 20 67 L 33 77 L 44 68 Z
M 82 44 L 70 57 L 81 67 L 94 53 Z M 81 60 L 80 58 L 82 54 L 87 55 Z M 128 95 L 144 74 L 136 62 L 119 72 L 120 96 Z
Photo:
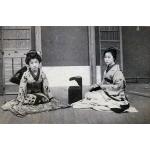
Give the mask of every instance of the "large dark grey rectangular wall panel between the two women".
M 89 65 L 88 28 L 85 26 L 43 26 L 43 66 Z

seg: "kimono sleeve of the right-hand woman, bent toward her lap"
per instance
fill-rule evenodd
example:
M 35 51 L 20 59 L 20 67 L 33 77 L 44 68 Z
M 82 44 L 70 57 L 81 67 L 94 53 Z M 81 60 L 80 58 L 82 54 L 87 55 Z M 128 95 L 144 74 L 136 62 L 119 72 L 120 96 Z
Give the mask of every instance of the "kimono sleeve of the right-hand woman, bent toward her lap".
M 113 76 L 113 83 L 109 85 L 102 85 L 104 90 L 118 91 L 125 88 L 125 79 L 121 71 L 115 72 Z

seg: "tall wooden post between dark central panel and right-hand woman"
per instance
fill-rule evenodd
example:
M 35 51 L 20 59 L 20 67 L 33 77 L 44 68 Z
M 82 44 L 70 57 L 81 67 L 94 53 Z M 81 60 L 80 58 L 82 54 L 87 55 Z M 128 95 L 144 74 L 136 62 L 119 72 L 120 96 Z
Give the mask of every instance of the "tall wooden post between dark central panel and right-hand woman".
M 95 52 L 95 27 L 88 27 L 89 34 L 89 61 L 90 61 L 90 82 L 96 83 L 96 52 Z

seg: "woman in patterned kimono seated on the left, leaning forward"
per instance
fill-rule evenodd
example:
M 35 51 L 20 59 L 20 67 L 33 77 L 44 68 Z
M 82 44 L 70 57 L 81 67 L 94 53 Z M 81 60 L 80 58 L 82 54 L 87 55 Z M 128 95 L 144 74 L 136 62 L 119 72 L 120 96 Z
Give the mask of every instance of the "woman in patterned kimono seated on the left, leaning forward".
M 16 99 L 11 100 L 2 106 L 3 110 L 10 110 L 19 116 L 28 113 L 36 113 L 58 108 L 65 108 L 68 105 L 61 105 L 51 94 L 47 77 L 42 71 L 42 58 L 36 51 L 29 51 L 25 62 L 27 70 L 19 85 L 19 92 Z

